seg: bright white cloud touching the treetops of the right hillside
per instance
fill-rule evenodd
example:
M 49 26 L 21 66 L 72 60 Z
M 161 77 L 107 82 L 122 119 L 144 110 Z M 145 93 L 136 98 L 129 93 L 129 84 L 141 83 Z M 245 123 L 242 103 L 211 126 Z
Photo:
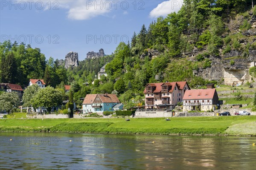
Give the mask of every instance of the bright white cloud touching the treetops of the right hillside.
M 179 11 L 182 4 L 183 4 L 183 0 L 164 1 L 160 4 L 158 4 L 157 7 L 154 8 L 150 12 L 149 16 L 151 18 L 157 18 L 157 17 L 160 17 L 160 16 L 166 17 L 166 15 L 168 15 L 172 12 Z

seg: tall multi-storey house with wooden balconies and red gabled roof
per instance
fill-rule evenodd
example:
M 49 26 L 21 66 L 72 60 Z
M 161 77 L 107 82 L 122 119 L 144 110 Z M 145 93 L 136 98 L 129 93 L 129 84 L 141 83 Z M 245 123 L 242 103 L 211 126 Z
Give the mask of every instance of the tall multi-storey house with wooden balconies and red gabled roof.
M 161 82 L 145 85 L 145 108 L 172 109 L 182 102 L 183 95 L 189 90 L 185 82 Z

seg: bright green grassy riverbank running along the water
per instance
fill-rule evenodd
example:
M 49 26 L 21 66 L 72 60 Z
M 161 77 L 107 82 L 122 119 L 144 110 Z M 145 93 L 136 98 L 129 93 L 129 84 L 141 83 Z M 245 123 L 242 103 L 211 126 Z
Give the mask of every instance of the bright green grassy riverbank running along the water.
M 95 119 L 0 119 L 1 132 L 70 132 L 256 136 L 256 116 Z M 244 129 L 246 128 L 246 129 Z

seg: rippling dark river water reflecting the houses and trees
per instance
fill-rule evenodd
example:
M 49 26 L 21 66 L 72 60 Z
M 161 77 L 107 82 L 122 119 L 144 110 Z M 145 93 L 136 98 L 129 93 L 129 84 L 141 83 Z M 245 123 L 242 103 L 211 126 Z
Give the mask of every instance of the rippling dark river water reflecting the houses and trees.
M 255 137 L 0 133 L 0 169 L 256 170 Z

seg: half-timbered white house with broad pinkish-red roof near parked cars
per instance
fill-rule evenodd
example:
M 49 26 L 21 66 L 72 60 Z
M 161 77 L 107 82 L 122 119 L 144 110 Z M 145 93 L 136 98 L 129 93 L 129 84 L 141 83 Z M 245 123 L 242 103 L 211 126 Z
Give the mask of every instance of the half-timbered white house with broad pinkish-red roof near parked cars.
M 214 111 L 218 107 L 215 88 L 187 90 L 183 96 L 183 111 Z

